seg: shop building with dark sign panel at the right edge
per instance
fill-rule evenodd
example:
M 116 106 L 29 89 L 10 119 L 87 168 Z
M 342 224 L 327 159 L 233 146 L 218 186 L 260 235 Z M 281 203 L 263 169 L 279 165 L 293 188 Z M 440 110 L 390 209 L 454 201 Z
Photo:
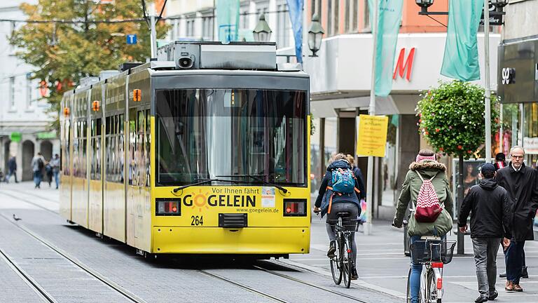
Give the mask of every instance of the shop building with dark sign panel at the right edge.
M 502 102 L 502 150 L 525 148 L 525 164 L 538 161 L 538 0 L 511 0 L 499 45 L 498 93 Z M 534 218 L 538 235 L 538 216 Z

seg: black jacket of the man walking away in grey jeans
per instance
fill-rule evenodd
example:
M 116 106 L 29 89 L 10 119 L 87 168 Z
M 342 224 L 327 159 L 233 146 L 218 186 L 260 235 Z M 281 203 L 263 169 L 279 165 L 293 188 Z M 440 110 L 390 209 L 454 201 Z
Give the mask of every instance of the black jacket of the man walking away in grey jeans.
M 457 225 L 467 225 L 471 212 L 471 238 L 511 238 L 511 205 L 506 189 L 483 179 L 463 199 Z

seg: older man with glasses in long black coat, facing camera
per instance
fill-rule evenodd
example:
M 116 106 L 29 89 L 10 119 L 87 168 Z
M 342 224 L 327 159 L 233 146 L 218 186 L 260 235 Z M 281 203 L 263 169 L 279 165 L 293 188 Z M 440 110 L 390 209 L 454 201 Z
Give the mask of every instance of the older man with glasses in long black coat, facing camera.
M 525 166 L 523 158 L 525 149 L 515 146 L 510 149 L 511 161 L 508 166 L 497 170 L 497 183 L 508 193 L 512 206 L 511 222 L 512 238 L 510 245 L 504 250 L 506 262 L 507 292 L 522 292 L 520 278 L 527 274 L 523 267 L 525 241 L 534 240 L 532 221 L 538 208 L 537 170 Z M 528 276 L 528 274 L 527 274 Z

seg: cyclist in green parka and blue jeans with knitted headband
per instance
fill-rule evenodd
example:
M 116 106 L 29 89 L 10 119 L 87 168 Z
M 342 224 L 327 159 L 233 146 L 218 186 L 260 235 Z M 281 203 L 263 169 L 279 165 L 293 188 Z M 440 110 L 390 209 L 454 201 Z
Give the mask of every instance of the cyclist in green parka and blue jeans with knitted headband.
M 446 166 L 436 161 L 435 154 L 432 150 L 422 149 L 418 153 L 415 162 L 411 163 L 401 187 L 401 193 L 396 206 L 396 213 L 392 225 L 401 228 L 403 217 L 406 214 L 409 202 L 413 203 L 416 208 L 418 195 L 423 180 L 429 180 L 435 189 L 435 194 L 439 199 L 439 204 L 444 205 L 445 209 L 435 222 L 418 222 L 415 216 L 410 217 L 408 224 L 409 243 L 415 243 L 420 240 L 421 236 L 441 236 L 445 235 L 452 229 L 453 200 L 446 180 Z M 418 293 L 420 292 L 420 274 L 422 273 L 422 264 L 414 263 L 411 257 L 411 276 L 409 283 L 411 288 L 411 303 L 418 303 Z

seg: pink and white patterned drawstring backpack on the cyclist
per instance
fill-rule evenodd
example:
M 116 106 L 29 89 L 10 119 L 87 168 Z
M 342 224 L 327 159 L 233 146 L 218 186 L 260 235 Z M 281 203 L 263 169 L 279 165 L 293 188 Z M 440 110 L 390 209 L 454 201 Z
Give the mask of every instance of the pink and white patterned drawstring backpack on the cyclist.
M 420 187 L 420 191 L 418 191 L 415 219 L 418 222 L 435 222 L 441 210 L 443 210 L 441 204 L 439 204 L 439 197 L 435 192 L 434 184 L 432 184 L 432 180 L 434 180 L 437 174 L 429 180 L 424 180 L 418 171 L 416 173 L 420 177 L 420 180 L 422 180 L 422 186 Z

